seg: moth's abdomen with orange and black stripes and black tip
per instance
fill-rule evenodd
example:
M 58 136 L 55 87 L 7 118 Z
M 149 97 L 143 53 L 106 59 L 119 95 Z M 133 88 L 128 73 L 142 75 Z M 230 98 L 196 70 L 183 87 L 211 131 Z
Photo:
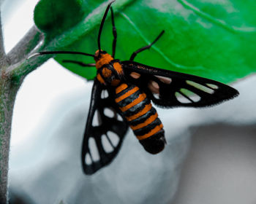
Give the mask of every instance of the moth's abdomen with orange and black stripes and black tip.
M 146 151 L 161 152 L 165 147 L 165 132 L 146 93 L 135 85 L 123 83 L 116 87 L 115 101 Z

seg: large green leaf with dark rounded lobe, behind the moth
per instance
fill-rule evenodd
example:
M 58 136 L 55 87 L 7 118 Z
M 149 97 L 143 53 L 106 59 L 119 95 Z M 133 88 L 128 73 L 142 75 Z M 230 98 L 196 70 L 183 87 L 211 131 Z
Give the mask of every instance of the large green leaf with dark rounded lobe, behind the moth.
M 58 0 L 56 2 L 61 2 Z M 44 3 L 42 3 L 44 2 Z M 47 18 L 56 13 L 51 26 L 36 20 L 37 26 L 45 32 L 47 41 L 44 50 L 72 50 L 94 54 L 97 50 L 99 23 L 108 2 L 69 0 L 67 8 L 47 5 L 51 0 L 41 0 L 34 12 L 34 19 Z M 78 17 L 70 21 L 69 7 L 78 7 Z M 53 5 L 53 4 L 51 4 Z M 58 7 L 58 3 L 55 4 Z M 116 58 L 129 60 L 138 48 L 152 42 L 165 30 L 161 39 L 151 50 L 141 52 L 135 61 L 158 68 L 186 72 L 233 82 L 256 68 L 256 12 L 255 1 L 242 0 L 159 0 L 125 1 L 113 3 L 116 29 L 118 32 Z M 64 23 L 67 20 L 67 26 Z M 50 19 L 46 20 L 50 22 Z M 71 23 L 70 23 L 71 22 Z M 61 31 L 61 32 L 57 32 Z M 102 49 L 110 52 L 113 41 L 110 14 L 102 32 Z M 58 55 L 56 60 L 69 70 L 93 79 L 95 68 L 85 68 L 62 60 L 79 60 L 94 63 L 90 57 L 79 55 Z

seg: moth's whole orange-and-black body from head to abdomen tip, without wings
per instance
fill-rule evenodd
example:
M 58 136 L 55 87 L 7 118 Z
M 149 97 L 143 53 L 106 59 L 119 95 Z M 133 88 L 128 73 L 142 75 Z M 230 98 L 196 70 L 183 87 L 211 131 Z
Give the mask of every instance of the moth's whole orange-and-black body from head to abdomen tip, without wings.
M 99 51 L 96 55 L 99 55 Z M 163 125 L 146 93 L 140 87 L 126 82 L 121 62 L 113 60 L 108 53 L 102 52 L 101 57 L 96 58 L 96 66 L 97 80 L 109 87 L 118 109 L 140 144 L 151 154 L 161 152 L 166 143 Z

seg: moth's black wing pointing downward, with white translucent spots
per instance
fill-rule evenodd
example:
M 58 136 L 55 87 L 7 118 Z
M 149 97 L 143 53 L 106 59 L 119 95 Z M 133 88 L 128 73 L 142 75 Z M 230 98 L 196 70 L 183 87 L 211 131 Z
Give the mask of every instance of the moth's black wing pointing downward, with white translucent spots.
M 86 174 L 93 174 L 108 165 L 121 147 L 128 125 L 116 112 L 115 104 L 110 92 L 94 79 L 82 148 Z

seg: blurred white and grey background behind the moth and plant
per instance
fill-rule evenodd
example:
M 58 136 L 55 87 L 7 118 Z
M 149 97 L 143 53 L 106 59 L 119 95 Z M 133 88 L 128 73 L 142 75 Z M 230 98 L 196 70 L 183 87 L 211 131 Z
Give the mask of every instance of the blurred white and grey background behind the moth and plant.
M 33 26 L 35 0 L 1 8 L 6 51 Z M 10 197 L 24 203 L 256 203 L 256 77 L 210 109 L 158 109 L 168 145 L 151 156 L 129 131 L 114 162 L 94 176 L 80 165 L 91 82 L 54 60 L 18 92 L 12 119 Z

